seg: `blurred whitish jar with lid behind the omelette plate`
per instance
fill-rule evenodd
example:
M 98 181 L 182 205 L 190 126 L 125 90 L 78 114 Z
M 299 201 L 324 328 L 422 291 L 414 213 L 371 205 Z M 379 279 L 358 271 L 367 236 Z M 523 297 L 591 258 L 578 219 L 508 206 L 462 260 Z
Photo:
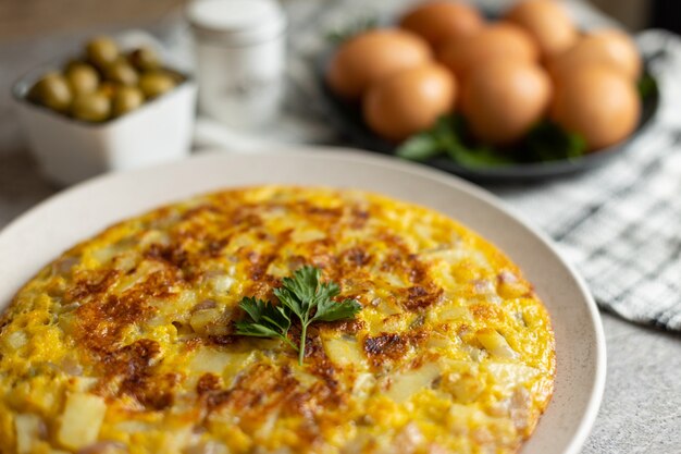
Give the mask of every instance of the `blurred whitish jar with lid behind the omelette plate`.
M 225 125 L 257 128 L 284 96 L 286 16 L 274 0 L 196 0 L 187 7 L 199 110 Z

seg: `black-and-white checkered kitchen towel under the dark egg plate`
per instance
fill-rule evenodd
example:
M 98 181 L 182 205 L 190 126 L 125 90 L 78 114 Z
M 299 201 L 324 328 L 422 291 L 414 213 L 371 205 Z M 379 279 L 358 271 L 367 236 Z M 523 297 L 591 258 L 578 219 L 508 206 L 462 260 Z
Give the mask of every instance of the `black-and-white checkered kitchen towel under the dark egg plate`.
M 389 12 L 404 9 L 401 3 L 379 1 L 372 7 Z M 295 99 L 288 110 L 295 112 L 298 106 L 300 116 L 315 108 L 320 96 L 308 74 L 325 47 L 319 30 L 347 23 L 344 11 L 348 9 L 320 9 L 305 21 L 318 24 L 315 29 L 306 33 L 311 27 L 304 23 L 292 29 L 295 56 L 289 76 Z M 573 13 L 586 28 L 611 25 L 591 11 Z M 681 38 L 648 30 L 637 40 L 652 59 L 663 102 L 654 124 L 622 156 L 569 177 L 487 188 L 556 241 L 602 308 L 631 321 L 681 331 Z M 300 99 L 309 102 L 302 108 Z M 317 134 L 329 128 L 323 110 L 319 113 L 306 120 Z M 331 132 L 322 140 L 343 143 Z

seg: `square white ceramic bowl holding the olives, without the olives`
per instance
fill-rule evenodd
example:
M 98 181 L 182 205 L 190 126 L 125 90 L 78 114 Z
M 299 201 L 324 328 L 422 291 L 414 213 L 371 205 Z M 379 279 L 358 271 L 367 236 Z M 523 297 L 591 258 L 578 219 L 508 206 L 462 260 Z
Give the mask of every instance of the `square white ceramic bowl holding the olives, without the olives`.
M 70 185 L 103 172 L 189 155 L 196 105 L 196 84 L 190 77 L 133 112 L 104 123 L 87 123 L 26 99 L 35 82 L 53 69 L 32 71 L 12 90 L 30 150 L 48 179 Z

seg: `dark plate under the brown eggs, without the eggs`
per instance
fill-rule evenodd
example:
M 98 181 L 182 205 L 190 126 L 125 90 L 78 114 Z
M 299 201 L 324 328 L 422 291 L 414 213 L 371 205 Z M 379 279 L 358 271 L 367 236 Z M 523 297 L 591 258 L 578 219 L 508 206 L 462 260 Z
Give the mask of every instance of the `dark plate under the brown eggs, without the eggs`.
M 324 74 L 330 57 L 330 54 L 324 54 L 320 58 L 317 62 L 315 71 L 322 91 L 322 102 L 327 112 L 329 120 L 338 131 L 343 132 L 354 145 L 371 151 L 398 157 L 398 146 L 377 136 L 364 123 L 361 114 L 361 106 L 358 102 L 348 102 L 337 97 L 326 85 Z M 639 91 L 642 98 L 641 119 L 639 120 L 636 130 L 619 144 L 581 156 L 570 156 L 569 150 L 567 150 L 565 154 L 560 152 L 552 157 L 542 156 L 536 152 L 524 154 L 528 147 L 524 147 L 525 144 L 523 140 L 523 143 L 515 147 L 513 154 L 516 155 L 511 158 L 511 161 L 508 161 L 506 151 L 499 150 L 497 154 L 494 149 L 491 150 L 492 155 L 490 155 L 490 149 L 485 150 L 492 159 L 483 157 L 483 159 L 466 159 L 463 160 L 465 162 L 461 162 L 450 156 L 437 156 L 423 160 L 414 160 L 473 181 L 542 180 L 599 167 L 611 158 L 620 155 L 633 139 L 646 131 L 655 118 L 659 108 L 660 94 L 657 82 L 651 74 L 647 63 L 646 61 L 644 73 L 639 84 Z M 446 121 L 460 122 L 461 119 L 454 118 L 446 119 Z M 535 131 L 531 133 L 533 134 L 532 139 L 534 140 L 535 137 L 538 137 L 538 140 L 544 140 L 544 143 L 540 144 L 540 148 L 550 147 L 553 144 L 556 144 L 557 147 L 569 148 L 568 142 L 570 138 L 565 135 L 565 133 L 562 137 L 558 135 L 560 134 L 559 132 L 554 134 L 554 130 L 555 126 L 552 124 L 537 125 Z M 532 144 L 536 145 L 536 140 Z M 472 147 L 467 146 L 467 148 L 478 146 L 476 144 L 468 145 L 472 145 Z M 518 151 L 522 155 L 518 155 Z M 472 156 L 471 150 L 467 152 L 469 152 L 469 156 Z M 495 157 L 499 159 L 496 160 L 494 159 Z

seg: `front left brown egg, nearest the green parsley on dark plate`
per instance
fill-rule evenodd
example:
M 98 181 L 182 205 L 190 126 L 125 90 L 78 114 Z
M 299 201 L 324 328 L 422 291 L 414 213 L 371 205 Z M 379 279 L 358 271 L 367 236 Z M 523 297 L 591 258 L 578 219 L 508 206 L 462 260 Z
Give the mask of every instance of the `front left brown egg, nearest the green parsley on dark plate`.
M 449 112 L 456 91 L 454 76 L 441 64 L 411 68 L 369 89 L 362 105 L 364 120 L 376 134 L 399 142 Z

